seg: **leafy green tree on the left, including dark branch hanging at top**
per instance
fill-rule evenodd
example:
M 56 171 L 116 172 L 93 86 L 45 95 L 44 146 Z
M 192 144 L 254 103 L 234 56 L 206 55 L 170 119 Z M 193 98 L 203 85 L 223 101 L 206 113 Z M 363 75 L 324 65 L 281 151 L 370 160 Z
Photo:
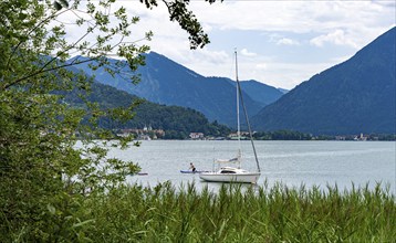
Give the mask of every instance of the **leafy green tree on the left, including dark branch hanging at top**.
M 92 68 L 108 64 L 107 54 L 127 60 L 133 71 L 144 64 L 142 53 L 148 46 L 129 41 L 129 29 L 139 18 L 128 17 L 125 8 L 116 9 L 114 2 L 1 1 L 1 242 L 84 241 L 83 225 L 94 219 L 81 220 L 85 215 L 79 214 L 82 203 L 117 188 L 127 175 L 138 171 L 129 161 L 107 158 L 106 149 L 91 139 L 111 136 L 108 130 L 98 128 L 101 117 L 111 115 L 118 120 L 133 117 L 136 106 L 133 101 L 123 110 L 103 110 L 83 95 L 84 108 L 62 102 L 62 92 L 91 89 L 90 78 L 69 70 L 84 62 L 79 59 L 65 62 L 72 54 L 95 60 L 97 65 Z M 177 7 L 177 2 L 184 1 L 166 3 Z M 187 4 L 188 1 L 184 3 Z M 191 47 L 208 42 L 186 8 L 170 13 L 173 20 L 192 34 Z M 188 28 L 189 21 L 196 32 Z M 71 39 L 71 34 L 80 35 Z M 148 31 L 144 38 L 149 40 L 152 35 Z M 119 66 L 115 63 L 106 72 L 114 75 Z M 82 123 L 84 117 L 87 124 Z M 77 144 L 76 136 L 82 139 Z M 125 147 L 129 140 L 111 145 Z

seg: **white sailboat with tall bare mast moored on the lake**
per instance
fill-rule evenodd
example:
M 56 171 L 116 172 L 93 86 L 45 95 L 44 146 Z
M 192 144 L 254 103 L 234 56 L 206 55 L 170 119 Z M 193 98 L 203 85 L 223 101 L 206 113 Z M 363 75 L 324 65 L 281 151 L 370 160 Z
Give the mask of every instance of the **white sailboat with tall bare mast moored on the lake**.
M 237 54 L 238 53 L 236 51 L 235 55 L 236 55 L 237 125 L 238 125 L 237 136 L 238 136 L 239 149 L 237 152 L 237 157 L 235 157 L 232 159 L 226 159 L 226 160 L 218 159 L 215 161 L 218 165 L 235 163 L 236 166 L 235 167 L 233 166 L 232 167 L 231 166 L 223 166 L 223 167 L 220 166 L 220 168 L 217 171 L 201 172 L 199 175 L 199 178 L 205 181 L 257 183 L 257 181 L 259 180 L 259 178 L 261 176 L 260 165 L 259 165 L 259 160 L 258 160 L 257 152 L 256 152 L 251 127 L 250 127 L 250 123 L 249 123 L 249 118 L 248 118 L 248 113 L 246 110 L 246 106 L 244 106 L 243 97 L 242 97 L 242 91 L 241 91 L 241 86 L 240 86 L 239 78 L 238 78 L 238 56 L 237 56 Z M 239 118 L 239 101 L 242 104 L 244 117 L 247 119 L 249 135 L 250 135 L 250 141 L 251 141 L 253 152 L 254 152 L 254 158 L 256 158 L 257 171 L 248 171 L 248 170 L 244 170 L 241 168 L 242 156 L 241 156 L 241 131 L 240 131 L 240 118 Z

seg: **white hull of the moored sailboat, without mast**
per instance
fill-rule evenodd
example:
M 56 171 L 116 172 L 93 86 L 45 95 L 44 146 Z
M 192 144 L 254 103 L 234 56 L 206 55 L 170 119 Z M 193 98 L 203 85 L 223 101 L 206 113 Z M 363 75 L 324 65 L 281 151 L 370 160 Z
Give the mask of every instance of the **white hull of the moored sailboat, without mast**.
M 248 173 L 219 173 L 219 172 L 204 172 L 199 178 L 210 182 L 239 182 L 239 183 L 257 183 L 260 178 L 260 172 Z

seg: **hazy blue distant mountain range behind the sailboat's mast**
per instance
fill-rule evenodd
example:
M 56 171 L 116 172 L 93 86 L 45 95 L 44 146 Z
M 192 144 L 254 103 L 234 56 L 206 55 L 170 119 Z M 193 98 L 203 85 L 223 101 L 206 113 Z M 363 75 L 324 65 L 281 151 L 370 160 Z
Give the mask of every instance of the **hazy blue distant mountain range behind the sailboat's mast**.
M 82 56 L 76 59 L 84 60 Z M 140 83 L 137 85 L 125 82 L 125 76 L 110 75 L 104 67 L 92 71 L 88 65 L 90 63 L 84 63 L 77 67 L 88 75 L 95 75 L 95 80 L 103 84 L 154 103 L 189 107 L 201 112 L 211 122 L 236 126 L 236 88 L 235 82 L 229 78 L 205 77 L 155 52 L 148 53 L 146 65 L 138 68 L 136 74 L 140 75 Z M 127 67 L 122 73 L 129 76 L 133 74 Z M 257 114 L 282 95 L 275 88 L 259 82 L 242 84 L 247 87 L 243 89 L 243 98 L 249 115 Z

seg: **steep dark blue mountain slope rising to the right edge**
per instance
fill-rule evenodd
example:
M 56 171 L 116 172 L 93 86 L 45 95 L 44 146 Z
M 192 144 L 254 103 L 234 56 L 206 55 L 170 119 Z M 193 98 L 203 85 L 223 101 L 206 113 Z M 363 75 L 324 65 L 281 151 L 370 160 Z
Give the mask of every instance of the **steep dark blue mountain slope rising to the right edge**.
M 254 129 L 395 134 L 395 36 L 393 28 L 264 107 L 251 119 Z

